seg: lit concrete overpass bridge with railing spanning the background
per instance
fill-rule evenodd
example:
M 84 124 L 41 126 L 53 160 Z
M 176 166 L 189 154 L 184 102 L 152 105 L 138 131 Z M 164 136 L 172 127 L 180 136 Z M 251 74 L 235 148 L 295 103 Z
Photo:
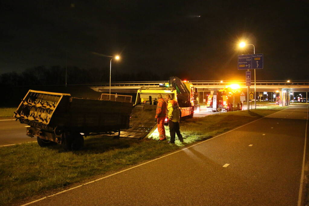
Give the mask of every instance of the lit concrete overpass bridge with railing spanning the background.
M 247 92 L 246 81 L 239 80 L 214 80 L 214 81 L 190 81 L 194 87 L 197 88 L 199 93 L 199 99 L 205 99 L 204 94 L 210 93 L 216 89 L 221 89 L 225 86 L 231 84 L 239 84 L 243 91 Z M 112 93 L 136 93 L 137 90 L 141 87 L 153 87 L 159 86 L 159 84 L 168 84 L 168 81 L 128 81 L 128 82 L 111 82 L 111 91 Z M 80 85 L 80 84 L 79 84 Z M 109 92 L 109 82 L 103 83 L 92 83 L 92 84 L 83 84 L 87 85 L 91 89 L 108 93 Z M 254 91 L 254 82 L 250 87 L 250 91 Z M 288 105 L 290 98 L 294 97 L 295 92 L 307 92 L 309 91 L 309 80 L 257 80 L 256 81 L 256 97 L 261 97 L 261 92 L 270 92 L 276 94 L 282 98 L 282 105 Z M 258 99 L 258 98 L 257 98 Z

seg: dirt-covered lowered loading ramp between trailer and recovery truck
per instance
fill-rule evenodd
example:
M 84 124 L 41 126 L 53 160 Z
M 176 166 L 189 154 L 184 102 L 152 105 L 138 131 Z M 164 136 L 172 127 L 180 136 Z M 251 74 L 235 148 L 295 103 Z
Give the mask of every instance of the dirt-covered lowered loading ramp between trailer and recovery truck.
M 157 123 L 154 121 L 156 108 L 156 105 L 134 106 L 130 118 L 130 128 L 121 130 L 120 137 L 147 138 L 157 128 Z

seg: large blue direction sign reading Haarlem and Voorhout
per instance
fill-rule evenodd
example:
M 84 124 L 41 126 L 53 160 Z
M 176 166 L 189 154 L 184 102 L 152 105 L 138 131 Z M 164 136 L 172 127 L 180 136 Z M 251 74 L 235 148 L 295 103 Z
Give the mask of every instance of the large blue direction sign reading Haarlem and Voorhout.
M 238 69 L 262 69 L 263 54 L 238 55 Z

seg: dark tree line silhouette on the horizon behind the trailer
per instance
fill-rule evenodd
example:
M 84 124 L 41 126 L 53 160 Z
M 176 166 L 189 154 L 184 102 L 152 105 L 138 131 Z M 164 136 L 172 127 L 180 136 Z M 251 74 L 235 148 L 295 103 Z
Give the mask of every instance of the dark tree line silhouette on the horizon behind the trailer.
M 174 76 L 171 72 L 155 74 L 151 71 L 112 72 L 112 81 L 162 81 Z M 0 75 L 0 85 L 18 87 L 29 85 L 65 85 L 66 68 L 61 66 L 37 66 L 21 73 L 7 72 Z M 67 67 L 67 84 L 109 82 L 109 69 Z

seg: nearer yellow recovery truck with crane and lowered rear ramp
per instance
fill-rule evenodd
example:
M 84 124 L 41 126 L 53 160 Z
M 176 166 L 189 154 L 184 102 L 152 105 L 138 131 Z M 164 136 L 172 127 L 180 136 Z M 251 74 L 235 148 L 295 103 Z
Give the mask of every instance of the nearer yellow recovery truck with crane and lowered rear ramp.
M 182 81 L 176 76 L 169 78 L 168 84 L 143 86 L 137 91 L 135 104 L 130 118 L 130 128 L 121 130 L 121 137 L 147 138 L 156 128 L 154 117 L 157 107 L 157 96 L 170 94 L 180 109 L 180 118 L 192 118 L 197 97 L 197 88 L 189 81 Z

